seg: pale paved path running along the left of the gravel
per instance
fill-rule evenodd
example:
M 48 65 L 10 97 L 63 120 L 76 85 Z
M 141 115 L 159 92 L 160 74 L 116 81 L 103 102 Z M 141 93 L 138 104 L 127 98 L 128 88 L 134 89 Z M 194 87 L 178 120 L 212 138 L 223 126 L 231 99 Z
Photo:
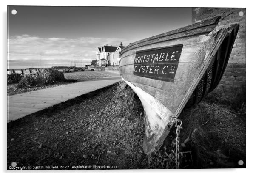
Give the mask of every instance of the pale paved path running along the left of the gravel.
M 118 74 L 98 72 L 111 77 L 7 96 L 7 123 L 121 80 Z

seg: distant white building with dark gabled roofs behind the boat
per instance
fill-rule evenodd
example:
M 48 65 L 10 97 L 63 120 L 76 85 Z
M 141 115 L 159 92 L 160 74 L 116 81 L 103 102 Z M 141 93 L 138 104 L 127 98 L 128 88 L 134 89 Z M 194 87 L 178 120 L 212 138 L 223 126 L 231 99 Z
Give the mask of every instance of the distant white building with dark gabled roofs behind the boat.
M 99 47 L 96 53 L 97 66 L 119 66 L 122 48 L 124 48 L 122 42 L 117 47 L 108 45 Z

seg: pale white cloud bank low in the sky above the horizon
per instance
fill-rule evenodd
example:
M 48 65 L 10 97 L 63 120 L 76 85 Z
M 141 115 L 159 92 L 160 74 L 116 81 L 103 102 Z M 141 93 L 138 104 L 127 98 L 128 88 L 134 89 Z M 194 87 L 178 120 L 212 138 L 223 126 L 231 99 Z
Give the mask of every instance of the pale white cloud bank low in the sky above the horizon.
M 9 42 L 9 68 L 70 66 L 95 59 L 96 50 L 105 44 L 128 44 L 124 38 L 41 38 L 39 36 L 13 36 Z

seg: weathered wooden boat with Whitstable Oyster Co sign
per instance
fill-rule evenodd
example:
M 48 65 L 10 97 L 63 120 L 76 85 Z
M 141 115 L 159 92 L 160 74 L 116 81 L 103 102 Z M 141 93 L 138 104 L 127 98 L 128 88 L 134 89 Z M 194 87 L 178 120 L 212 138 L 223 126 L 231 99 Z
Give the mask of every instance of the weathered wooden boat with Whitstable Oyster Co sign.
M 220 82 L 239 25 L 218 29 L 220 17 L 134 42 L 121 51 L 119 72 L 145 112 L 143 150 L 159 149 L 183 108 Z

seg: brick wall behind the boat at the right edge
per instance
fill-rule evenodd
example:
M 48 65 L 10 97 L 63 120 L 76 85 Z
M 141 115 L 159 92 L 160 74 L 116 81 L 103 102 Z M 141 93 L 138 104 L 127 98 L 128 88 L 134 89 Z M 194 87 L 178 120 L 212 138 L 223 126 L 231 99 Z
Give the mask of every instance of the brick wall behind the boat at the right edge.
M 213 16 L 223 17 L 216 29 L 235 23 L 240 25 L 219 87 L 230 89 L 245 86 L 245 8 L 192 8 L 192 24 Z

